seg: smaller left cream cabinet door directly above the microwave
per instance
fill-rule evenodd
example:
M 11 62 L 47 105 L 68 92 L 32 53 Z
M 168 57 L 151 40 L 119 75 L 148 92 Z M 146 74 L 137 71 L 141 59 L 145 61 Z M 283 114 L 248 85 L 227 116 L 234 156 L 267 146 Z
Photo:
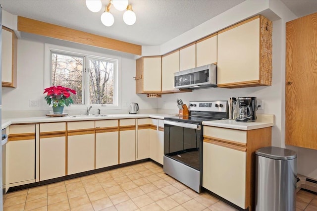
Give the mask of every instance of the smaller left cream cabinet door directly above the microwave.
M 187 70 L 196 67 L 196 44 L 179 50 L 179 70 Z

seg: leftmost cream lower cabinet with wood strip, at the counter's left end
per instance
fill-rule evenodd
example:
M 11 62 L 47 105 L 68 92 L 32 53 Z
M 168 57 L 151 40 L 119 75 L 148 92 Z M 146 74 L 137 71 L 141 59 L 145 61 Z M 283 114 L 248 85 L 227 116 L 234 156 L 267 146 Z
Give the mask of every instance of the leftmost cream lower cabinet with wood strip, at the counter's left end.
M 35 182 L 35 124 L 10 125 L 6 144 L 5 185 Z

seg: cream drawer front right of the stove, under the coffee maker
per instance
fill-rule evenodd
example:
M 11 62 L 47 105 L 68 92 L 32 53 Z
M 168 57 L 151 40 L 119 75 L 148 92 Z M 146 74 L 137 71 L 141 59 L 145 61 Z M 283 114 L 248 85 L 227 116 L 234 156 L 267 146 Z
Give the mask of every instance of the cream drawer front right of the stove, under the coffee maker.
M 204 126 L 204 136 L 244 144 L 247 143 L 247 131 L 243 130 Z

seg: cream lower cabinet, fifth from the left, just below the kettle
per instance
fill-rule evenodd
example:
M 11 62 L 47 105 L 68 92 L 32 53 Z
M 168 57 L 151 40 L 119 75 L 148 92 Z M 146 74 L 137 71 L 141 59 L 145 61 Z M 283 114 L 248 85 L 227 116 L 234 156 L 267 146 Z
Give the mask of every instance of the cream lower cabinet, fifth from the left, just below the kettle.
M 119 163 L 135 161 L 135 119 L 120 119 L 119 125 Z

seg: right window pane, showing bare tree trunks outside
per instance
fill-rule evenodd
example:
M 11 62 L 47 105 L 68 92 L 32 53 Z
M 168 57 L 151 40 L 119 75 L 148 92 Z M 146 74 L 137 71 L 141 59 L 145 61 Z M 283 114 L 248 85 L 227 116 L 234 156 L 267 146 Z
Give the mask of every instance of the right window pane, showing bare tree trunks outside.
M 113 104 L 114 62 L 89 59 L 90 104 Z

